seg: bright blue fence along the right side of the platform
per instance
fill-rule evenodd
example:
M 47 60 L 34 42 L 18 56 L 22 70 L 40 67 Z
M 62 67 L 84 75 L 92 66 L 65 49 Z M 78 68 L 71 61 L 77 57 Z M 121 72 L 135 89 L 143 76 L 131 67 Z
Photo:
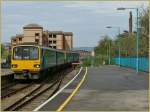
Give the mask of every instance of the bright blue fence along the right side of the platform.
M 119 65 L 119 58 L 113 58 L 113 62 Z M 121 57 L 120 65 L 136 69 L 136 57 Z M 149 72 L 149 58 L 139 57 L 139 70 Z

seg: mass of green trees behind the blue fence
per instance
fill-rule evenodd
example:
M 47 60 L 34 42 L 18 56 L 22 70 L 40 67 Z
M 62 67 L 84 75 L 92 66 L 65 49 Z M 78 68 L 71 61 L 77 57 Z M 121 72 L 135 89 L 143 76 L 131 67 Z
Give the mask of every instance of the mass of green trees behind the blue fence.
M 139 56 L 148 57 L 149 52 L 149 9 L 143 9 L 140 13 L 139 18 L 141 30 L 139 38 Z M 107 35 L 102 37 L 95 47 L 96 60 L 99 63 L 106 61 L 108 63 L 108 51 L 111 51 L 111 58 L 119 56 L 119 46 L 120 46 L 120 56 L 121 57 L 135 57 L 136 54 L 136 32 L 129 34 L 129 32 L 121 33 L 117 35 L 115 40 L 112 40 Z

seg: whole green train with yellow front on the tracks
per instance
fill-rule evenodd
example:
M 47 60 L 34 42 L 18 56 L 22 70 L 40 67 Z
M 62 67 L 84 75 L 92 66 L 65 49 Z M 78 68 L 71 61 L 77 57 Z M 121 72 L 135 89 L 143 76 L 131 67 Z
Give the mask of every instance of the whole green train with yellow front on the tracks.
M 47 71 L 78 61 L 79 54 L 76 52 L 40 45 L 16 45 L 12 47 L 11 70 L 14 79 L 40 79 Z

